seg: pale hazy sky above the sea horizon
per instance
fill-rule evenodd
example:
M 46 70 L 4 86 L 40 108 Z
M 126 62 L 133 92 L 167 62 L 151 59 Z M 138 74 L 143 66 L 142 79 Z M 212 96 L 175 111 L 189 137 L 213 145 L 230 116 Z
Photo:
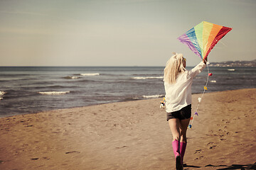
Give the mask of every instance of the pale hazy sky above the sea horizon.
M 164 66 L 201 21 L 233 28 L 209 62 L 256 59 L 255 0 L 0 0 L 0 66 Z

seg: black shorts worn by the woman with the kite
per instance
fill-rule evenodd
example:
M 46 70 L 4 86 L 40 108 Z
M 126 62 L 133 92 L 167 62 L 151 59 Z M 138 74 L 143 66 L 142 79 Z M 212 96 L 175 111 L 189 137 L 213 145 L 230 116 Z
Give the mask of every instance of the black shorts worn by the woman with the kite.
M 181 108 L 179 111 L 174 111 L 171 113 L 166 113 L 166 120 L 177 118 L 179 120 L 191 118 L 191 104 Z

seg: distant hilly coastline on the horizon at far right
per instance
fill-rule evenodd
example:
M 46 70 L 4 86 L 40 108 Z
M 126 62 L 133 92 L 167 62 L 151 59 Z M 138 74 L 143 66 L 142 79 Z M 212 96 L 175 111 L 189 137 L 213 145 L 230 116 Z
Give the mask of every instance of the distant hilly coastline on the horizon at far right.
M 256 60 L 252 61 L 228 61 L 210 62 L 211 67 L 256 67 Z

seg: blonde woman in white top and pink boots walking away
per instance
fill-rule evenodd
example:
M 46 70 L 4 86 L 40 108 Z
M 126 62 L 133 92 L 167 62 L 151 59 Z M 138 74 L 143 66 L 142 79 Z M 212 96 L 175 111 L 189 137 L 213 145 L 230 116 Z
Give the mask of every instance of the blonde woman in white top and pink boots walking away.
M 205 67 L 203 60 L 187 71 L 186 59 L 174 52 L 164 69 L 164 88 L 166 91 L 166 117 L 173 135 L 172 146 L 176 159 L 176 169 L 183 169 L 183 157 L 186 150 L 186 130 L 191 118 L 191 85 Z

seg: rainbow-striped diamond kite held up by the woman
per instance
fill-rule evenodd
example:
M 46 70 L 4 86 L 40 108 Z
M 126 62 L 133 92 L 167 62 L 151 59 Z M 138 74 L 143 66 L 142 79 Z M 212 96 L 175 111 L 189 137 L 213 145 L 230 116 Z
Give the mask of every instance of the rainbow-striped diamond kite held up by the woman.
M 218 41 L 230 30 L 232 30 L 232 28 L 203 21 L 181 35 L 178 40 L 187 45 L 196 55 L 204 60 L 210 50 L 212 50 Z

